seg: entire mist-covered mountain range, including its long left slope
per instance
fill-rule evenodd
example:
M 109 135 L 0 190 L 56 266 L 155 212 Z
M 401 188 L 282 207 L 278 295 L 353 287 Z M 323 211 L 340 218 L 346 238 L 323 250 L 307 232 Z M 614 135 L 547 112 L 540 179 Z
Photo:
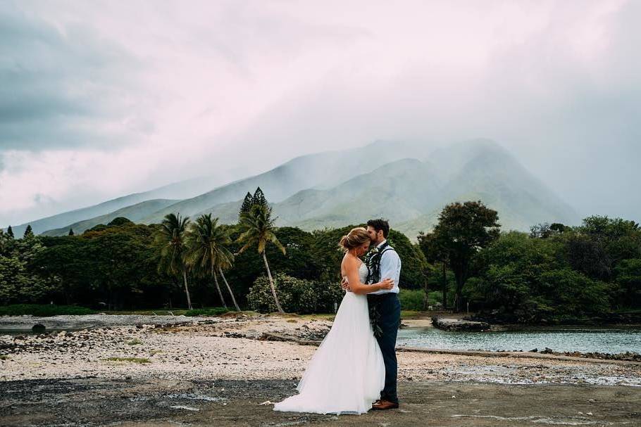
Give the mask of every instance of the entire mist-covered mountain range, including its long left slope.
M 497 210 L 504 229 L 580 221 L 570 205 L 494 141 L 478 139 L 447 147 L 377 141 L 294 158 L 196 197 L 147 200 L 45 234 L 63 235 L 69 228 L 82 232 L 118 216 L 151 224 L 170 212 L 190 217 L 211 213 L 231 224 L 237 221 L 244 195 L 258 186 L 273 205 L 279 226 L 307 230 L 385 217 L 393 228 L 415 238 L 418 231 L 435 224 L 444 205 L 466 200 L 482 200 Z

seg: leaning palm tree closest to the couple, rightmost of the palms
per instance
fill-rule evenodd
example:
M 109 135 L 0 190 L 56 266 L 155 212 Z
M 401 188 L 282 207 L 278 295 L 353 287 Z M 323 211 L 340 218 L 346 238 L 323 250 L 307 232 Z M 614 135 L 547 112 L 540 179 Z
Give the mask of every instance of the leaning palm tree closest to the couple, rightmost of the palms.
M 278 312 L 284 313 L 282 307 L 280 307 L 278 296 L 276 295 L 274 279 L 271 276 L 269 264 L 267 262 L 267 255 L 265 254 L 267 243 L 273 243 L 282 251 L 283 255 L 285 254 L 285 246 L 282 246 L 274 234 L 274 222 L 275 218 L 271 217 L 271 207 L 266 203 L 254 204 L 251 206 L 249 212 L 242 212 L 238 223 L 243 232 L 239 236 L 238 241 L 244 243 L 244 246 L 240 248 L 238 253 L 244 252 L 244 250 L 247 250 L 247 248 L 251 246 L 258 246 L 259 254 L 263 255 L 263 261 L 265 262 L 265 268 L 267 269 L 269 285 L 271 287 L 272 295 L 274 296 L 276 308 L 278 309 Z

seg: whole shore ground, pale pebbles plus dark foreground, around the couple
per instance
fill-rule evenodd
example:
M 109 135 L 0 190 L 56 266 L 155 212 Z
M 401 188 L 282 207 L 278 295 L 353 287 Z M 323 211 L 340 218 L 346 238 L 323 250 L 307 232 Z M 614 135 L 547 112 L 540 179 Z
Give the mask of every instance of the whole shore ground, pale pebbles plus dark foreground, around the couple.
M 25 425 L 28 419 L 32 425 L 54 425 L 62 421 L 104 425 L 122 421 L 121 425 L 161 426 L 175 425 L 173 422 L 179 419 L 182 423 L 184 416 L 195 416 L 189 421 L 193 425 L 269 425 L 270 422 L 278 425 L 287 420 L 288 414 L 268 410 L 270 402 L 295 393 L 295 385 L 316 350 L 315 345 L 304 344 L 318 342 L 331 326 L 327 319 L 273 315 L 112 319 L 92 316 L 1 319 L 5 328 L 11 325 L 14 329 L 35 322 L 56 329 L 61 324 L 70 329 L 73 324 L 87 322 L 100 325 L 50 335 L 0 336 L 0 354 L 4 355 L 0 359 L 0 391 L 8 399 L 8 405 L 0 412 L 1 425 Z M 421 320 L 404 323 L 414 326 Z M 438 415 L 432 415 L 442 420 L 440 425 L 471 425 L 464 420 L 469 417 L 475 417 L 475 426 L 540 422 L 641 425 L 639 362 L 540 354 L 400 350 L 399 389 L 405 403 L 401 409 L 410 411 L 409 408 L 414 407 L 414 415 L 419 409 L 436 411 Z M 228 385 L 225 387 L 225 384 Z M 171 390 L 171 393 L 158 390 Z M 84 397 L 74 398 L 75 395 Z M 99 395 L 110 396 L 111 403 L 89 405 Z M 459 400 L 453 405 L 450 402 L 461 396 L 468 396 L 475 403 Z M 154 408 L 163 411 L 152 415 L 147 410 L 135 411 L 128 406 L 125 419 L 133 424 L 125 424 L 113 413 L 113 409 L 118 409 L 114 403 L 118 400 L 114 398 L 123 402 L 126 399 L 128 405 L 137 402 L 136 399 L 155 402 Z M 447 404 L 436 405 L 435 399 Z M 508 402 L 499 404 L 501 400 Z M 525 414 L 530 409 L 525 411 L 520 407 L 521 400 L 527 400 L 530 409 L 540 407 L 540 413 Z M 57 402 L 57 409 L 47 412 L 47 405 L 53 402 Z M 485 409 L 478 408 L 480 402 Z M 61 406 L 73 406 L 78 417 L 69 418 L 68 413 L 60 411 Z M 243 407 L 245 412 L 259 411 L 263 416 L 257 420 L 247 415 L 245 419 Z M 471 413 L 473 408 L 480 412 Z M 614 411 L 615 408 L 618 409 Z M 222 417 L 220 423 L 211 424 L 205 421 L 207 417 L 199 418 L 208 412 Z M 587 415 L 588 412 L 592 415 Z M 395 425 L 411 425 L 409 413 L 395 413 L 402 414 L 402 419 L 397 419 L 400 423 Z M 67 418 L 59 414 L 67 414 Z M 302 422 L 300 414 L 291 416 L 297 423 L 322 421 L 328 425 L 354 419 L 353 416 L 340 416 L 340 420 L 331 416 L 303 416 L 306 421 Z M 382 420 L 392 415 L 386 412 L 366 416 L 387 422 Z M 554 421 L 554 416 L 579 418 Z M 237 423 L 225 423 L 231 419 Z

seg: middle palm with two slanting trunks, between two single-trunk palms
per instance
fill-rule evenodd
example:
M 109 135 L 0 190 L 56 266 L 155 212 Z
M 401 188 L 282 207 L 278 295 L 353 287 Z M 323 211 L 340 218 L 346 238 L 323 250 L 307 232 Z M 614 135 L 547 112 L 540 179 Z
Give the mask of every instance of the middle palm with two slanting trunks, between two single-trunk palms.
M 216 274 L 216 271 L 220 272 L 236 310 L 240 311 L 236 298 L 234 298 L 234 293 L 223 274 L 223 267 L 231 267 L 234 260 L 234 255 L 226 248 L 230 243 L 231 238 L 228 231 L 223 226 L 218 225 L 218 218 L 211 219 L 211 214 L 201 215 L 187 232 L 187 246 L 189 248 L 187 262 L 199 274 L 213 276 L 220 301 L 227 308 Z

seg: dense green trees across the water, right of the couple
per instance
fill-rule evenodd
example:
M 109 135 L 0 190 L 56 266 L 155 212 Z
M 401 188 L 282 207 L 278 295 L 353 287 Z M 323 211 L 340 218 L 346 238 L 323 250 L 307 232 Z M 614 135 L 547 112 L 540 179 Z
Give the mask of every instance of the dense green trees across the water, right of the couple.
M 495 320 L 540 323 L 609 317 L 641 309 L 641 229 L 605 216 L 580 226 L 536 224 L 499 232 L 480 201 L 452 203 L 418 236 L 444 305 Z M 451 272 L 451 273 L 450 273 Z M 448 274 L 451 274 L 448 276 Z

